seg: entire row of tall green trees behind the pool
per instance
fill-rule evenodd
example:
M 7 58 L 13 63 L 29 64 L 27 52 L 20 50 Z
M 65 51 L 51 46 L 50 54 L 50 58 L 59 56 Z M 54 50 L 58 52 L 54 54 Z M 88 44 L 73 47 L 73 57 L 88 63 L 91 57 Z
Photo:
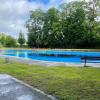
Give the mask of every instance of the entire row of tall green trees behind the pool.
M 26 27 L 29 47 L 100 48 L 100 1 L 31 11 Z

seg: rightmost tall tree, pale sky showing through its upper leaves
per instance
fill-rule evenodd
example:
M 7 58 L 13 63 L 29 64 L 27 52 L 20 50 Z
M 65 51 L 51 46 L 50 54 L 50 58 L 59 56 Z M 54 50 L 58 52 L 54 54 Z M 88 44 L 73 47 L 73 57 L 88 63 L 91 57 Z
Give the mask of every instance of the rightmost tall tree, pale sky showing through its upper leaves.
M 100 43 L 100 20 L 97 21 L 97 18 L 100 17 L 100 13 L 98 13 L 100 9 L 100 1 L 99 0 L 91 0 L 89 2 L 84 2 L 84 11 L 85 11 L 85 29 L 86 33 L 82 39 L 82 46 L 89 48 L 99 47 Z

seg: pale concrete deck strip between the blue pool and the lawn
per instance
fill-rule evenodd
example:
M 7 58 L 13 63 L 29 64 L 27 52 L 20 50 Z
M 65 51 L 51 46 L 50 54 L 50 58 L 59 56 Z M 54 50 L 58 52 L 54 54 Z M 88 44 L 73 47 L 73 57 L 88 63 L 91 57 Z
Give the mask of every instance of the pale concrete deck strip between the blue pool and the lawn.
M 15 60 L 30 65 L 38 65 L 38 66 L 46 66 L 46 67 L 51 67 L 51 66 L 84 67 L 84 63 L 68 63 L 68 62 L 65 63 L 65 62 L 32 60 L 32 59 L 26 59 L 21 57 L 12 57 L 12 56 L 9 57 L 5 55 L 0 55 L 0 58 L 8 58 L 9 60 Z M 86 63 L 86 65 L 100 68 L 100 63 Z

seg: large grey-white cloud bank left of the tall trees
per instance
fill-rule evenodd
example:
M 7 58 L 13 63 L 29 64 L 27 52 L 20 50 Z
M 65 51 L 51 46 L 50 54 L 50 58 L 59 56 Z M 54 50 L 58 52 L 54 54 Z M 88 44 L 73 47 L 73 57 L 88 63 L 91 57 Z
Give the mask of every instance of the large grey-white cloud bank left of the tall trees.
M 0 32 L 10 35 L 17 34 L 25 29 L 23 16 L 27 16 L 30 10 L 42 8 L 41 4 L 29 3 L 27 0 L 0 0 Z

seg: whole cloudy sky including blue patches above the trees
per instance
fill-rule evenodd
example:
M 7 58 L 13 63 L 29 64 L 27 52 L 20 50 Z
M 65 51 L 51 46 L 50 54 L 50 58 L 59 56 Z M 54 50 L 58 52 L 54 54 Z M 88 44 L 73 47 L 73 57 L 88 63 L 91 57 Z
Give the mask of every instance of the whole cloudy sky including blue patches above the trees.
M 0 33 L 16 37 L 20 30 L 26 32 L 25 22 L 30 10 L 47 10 L 69 1 L 73 0 L 0 0 Z

